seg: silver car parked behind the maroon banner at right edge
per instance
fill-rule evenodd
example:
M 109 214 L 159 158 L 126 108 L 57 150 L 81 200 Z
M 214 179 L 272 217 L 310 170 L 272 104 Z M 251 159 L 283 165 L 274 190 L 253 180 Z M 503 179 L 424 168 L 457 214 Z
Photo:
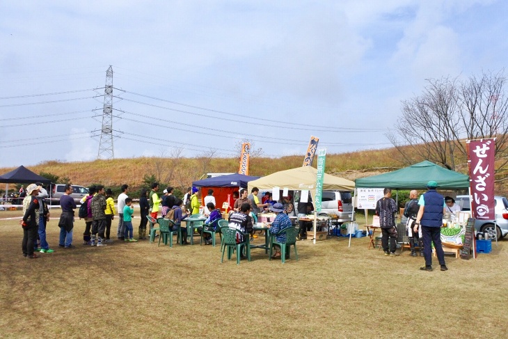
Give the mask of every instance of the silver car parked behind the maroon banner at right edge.
M 475 229 L 479 232 L 489 232 L 489 237 L 495 237 L 495 225 L 498 228 L 498 240 L 508 234 L 508 200 L 504 196 L 495 196 L 495 220 L 475 221 Z M 462 207 L 463 211 L 471 210 L 469 196 L 457 196 L 455 203 Z

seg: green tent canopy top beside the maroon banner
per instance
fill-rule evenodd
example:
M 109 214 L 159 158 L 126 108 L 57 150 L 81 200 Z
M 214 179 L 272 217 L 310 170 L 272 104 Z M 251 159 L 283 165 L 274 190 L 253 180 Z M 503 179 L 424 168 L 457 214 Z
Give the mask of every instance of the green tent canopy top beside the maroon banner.
M 355 186 L 356 188 L 425 189 L 430 180 L 438 182 L 440 189 L 469 187 L 468 175 L 450 171 L 427 160 L 397 171 L 356 179 Z

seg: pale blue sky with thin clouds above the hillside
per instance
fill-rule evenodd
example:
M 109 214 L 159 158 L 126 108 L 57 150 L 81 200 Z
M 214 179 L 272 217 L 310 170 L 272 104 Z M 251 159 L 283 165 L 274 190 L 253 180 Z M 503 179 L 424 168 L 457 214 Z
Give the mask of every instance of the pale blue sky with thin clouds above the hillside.
M 506 67 L 508 1 L 1 1 L 0 168 L 391 147 L 428 79 Z M 107 144 L 102 144 L 102 146 Z

